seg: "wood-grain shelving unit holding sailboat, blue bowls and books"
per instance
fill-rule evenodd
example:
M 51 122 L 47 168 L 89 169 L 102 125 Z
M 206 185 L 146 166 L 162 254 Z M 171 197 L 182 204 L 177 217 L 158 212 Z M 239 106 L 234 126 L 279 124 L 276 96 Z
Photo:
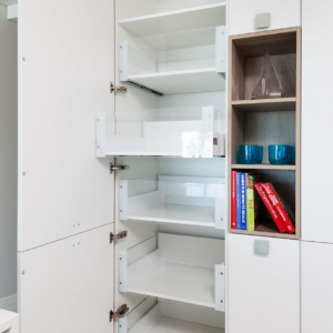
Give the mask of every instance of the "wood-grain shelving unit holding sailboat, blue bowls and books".
M 268 49 L 285 92 L 285 98 L 251 100 L 263 70 L 263 51 Z M 273 30 L 230 37 L 229 47 L 229 232 L 300 239 L 301 175 L 301 28 Z M 263 164 L 239 164 L 240 144 L 264 147 Z M 293 165 L 272 165 L 269 144 L 295 148 Z M 231 173 L 233 170 L 255 172 L 261 181 L 272 182 L 286 210 L 294 218 L 295 234 L 279 232 L 262 205 L 255 231 L 231 229 Z

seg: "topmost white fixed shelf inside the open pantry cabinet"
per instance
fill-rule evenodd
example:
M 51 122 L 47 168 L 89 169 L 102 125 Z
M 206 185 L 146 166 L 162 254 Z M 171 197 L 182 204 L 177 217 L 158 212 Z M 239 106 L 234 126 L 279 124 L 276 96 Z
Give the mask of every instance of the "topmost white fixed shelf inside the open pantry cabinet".
M 119 24 L 138 37 L 225 26 L 225 2 L 131 18 Z

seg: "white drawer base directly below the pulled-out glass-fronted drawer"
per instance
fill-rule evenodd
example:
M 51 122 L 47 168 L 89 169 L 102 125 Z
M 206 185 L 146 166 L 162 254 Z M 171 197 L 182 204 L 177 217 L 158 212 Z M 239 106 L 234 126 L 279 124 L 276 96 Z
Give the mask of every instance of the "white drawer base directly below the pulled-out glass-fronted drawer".
M 210 206 L 159 204 L 133 212 L 128 215 L 128 220 L 214 228 L 215 209 Z

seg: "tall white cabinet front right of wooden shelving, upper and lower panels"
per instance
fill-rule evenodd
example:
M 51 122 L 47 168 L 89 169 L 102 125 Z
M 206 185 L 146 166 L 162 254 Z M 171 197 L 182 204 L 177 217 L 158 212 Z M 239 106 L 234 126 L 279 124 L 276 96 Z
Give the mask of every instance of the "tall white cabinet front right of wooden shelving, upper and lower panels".
M 333 218 L 330 213 L 333 183 L 326 176 L 333 168 L 330 108 L 333 48 L 326 42 L 332 37 L 332 9 L 330 1 L 316 1 L 314 7 L 309 0 L 302 2 L 302 333 L 333 331 Z

